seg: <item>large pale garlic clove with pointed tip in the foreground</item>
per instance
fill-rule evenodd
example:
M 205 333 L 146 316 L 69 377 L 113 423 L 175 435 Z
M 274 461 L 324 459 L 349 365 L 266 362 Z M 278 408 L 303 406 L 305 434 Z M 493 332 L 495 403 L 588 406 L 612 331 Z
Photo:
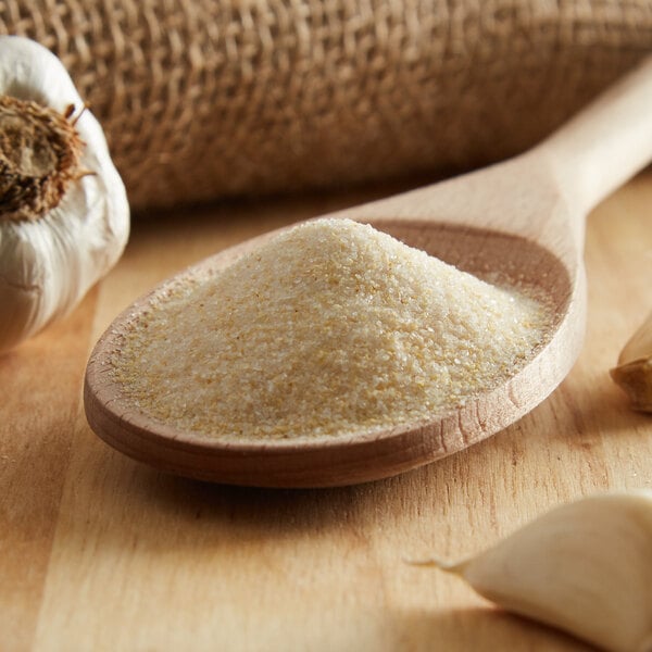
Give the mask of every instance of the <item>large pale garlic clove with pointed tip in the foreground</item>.
M 652 491 L 586 498 L 468 561 L 419 564 L 454 573 L 503 609 L 603 650 L 652 650 Z

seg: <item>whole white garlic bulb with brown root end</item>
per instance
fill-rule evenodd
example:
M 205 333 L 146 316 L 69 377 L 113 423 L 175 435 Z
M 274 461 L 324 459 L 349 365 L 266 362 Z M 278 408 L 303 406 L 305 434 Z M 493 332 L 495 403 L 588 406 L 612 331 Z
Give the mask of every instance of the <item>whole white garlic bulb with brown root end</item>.
M 70 312 L 128 233 L 102 128 L 62 63 L 0 36 L 0 352 Z

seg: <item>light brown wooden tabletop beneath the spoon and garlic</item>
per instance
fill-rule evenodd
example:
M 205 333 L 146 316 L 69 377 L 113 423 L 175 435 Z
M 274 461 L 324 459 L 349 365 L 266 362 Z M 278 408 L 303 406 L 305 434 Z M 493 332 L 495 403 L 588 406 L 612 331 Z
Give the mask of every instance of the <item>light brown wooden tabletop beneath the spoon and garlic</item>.
M 561 501 L 652 487 L 652 416 L 607 375 L 652 308 L 650 172 L 590 216 L 573 373 L 462 454 L 358 487 L 243 489 L 152 471 L 86 424 L 90 348 L 134 298 L 241 239 L 387 192 L 138 218 L 84 303 L 0 359 L 0 650 L 588 650 L 402 560 L 456 559 Z

